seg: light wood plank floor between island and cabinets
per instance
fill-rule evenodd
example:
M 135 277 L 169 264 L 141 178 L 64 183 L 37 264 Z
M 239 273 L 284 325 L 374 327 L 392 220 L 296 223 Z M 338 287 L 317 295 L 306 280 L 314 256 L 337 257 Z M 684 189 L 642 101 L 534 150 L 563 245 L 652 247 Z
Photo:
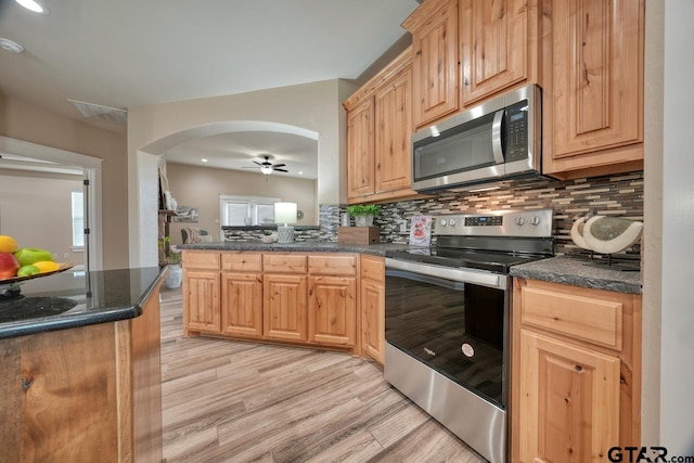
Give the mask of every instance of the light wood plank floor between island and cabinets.
M 162 290 L 164 458 L 174 462 L 484 462 L 342 352 L 182 337 Z

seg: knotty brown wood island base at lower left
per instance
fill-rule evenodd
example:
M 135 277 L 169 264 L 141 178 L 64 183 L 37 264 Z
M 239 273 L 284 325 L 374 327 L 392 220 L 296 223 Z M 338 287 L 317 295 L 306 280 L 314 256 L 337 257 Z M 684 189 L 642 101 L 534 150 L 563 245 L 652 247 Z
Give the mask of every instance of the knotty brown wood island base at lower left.
M 164 272 L 150 273 L 133 279 L 151 279 L 126 303 L 133 318 L 117 320 L 123 307 L 92 307 L 80 326 L 0 339 L 0 462 L 162 462 Z M 121 283 L 116 292 L 131 288 Z M 116 320 L 85 324 L 90 310 Z

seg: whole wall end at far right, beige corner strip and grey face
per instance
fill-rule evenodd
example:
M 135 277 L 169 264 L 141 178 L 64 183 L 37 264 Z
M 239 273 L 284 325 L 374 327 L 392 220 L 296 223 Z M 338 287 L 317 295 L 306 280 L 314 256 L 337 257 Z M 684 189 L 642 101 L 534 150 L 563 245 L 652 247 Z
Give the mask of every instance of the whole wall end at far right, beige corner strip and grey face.
M 691 0 L 646 5 L 641 440 L 669 458 L 694 456 L 692 18 Z

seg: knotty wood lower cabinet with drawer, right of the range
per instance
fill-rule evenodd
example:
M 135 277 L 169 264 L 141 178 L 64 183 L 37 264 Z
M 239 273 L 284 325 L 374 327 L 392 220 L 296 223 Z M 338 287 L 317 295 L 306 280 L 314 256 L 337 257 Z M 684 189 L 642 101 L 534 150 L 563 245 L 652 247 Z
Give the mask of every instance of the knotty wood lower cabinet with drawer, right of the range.
M 641 296 L 516 279 L 513 299 L 512 461 L 639 445 Z

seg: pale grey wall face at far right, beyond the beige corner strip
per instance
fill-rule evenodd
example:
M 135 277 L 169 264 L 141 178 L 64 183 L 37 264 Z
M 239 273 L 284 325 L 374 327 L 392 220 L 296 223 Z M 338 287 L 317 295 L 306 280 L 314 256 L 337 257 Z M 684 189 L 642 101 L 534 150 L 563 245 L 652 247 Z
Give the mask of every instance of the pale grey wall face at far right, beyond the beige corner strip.
M 694 456 L 694 1 L 664 3 L 660 443 Z

